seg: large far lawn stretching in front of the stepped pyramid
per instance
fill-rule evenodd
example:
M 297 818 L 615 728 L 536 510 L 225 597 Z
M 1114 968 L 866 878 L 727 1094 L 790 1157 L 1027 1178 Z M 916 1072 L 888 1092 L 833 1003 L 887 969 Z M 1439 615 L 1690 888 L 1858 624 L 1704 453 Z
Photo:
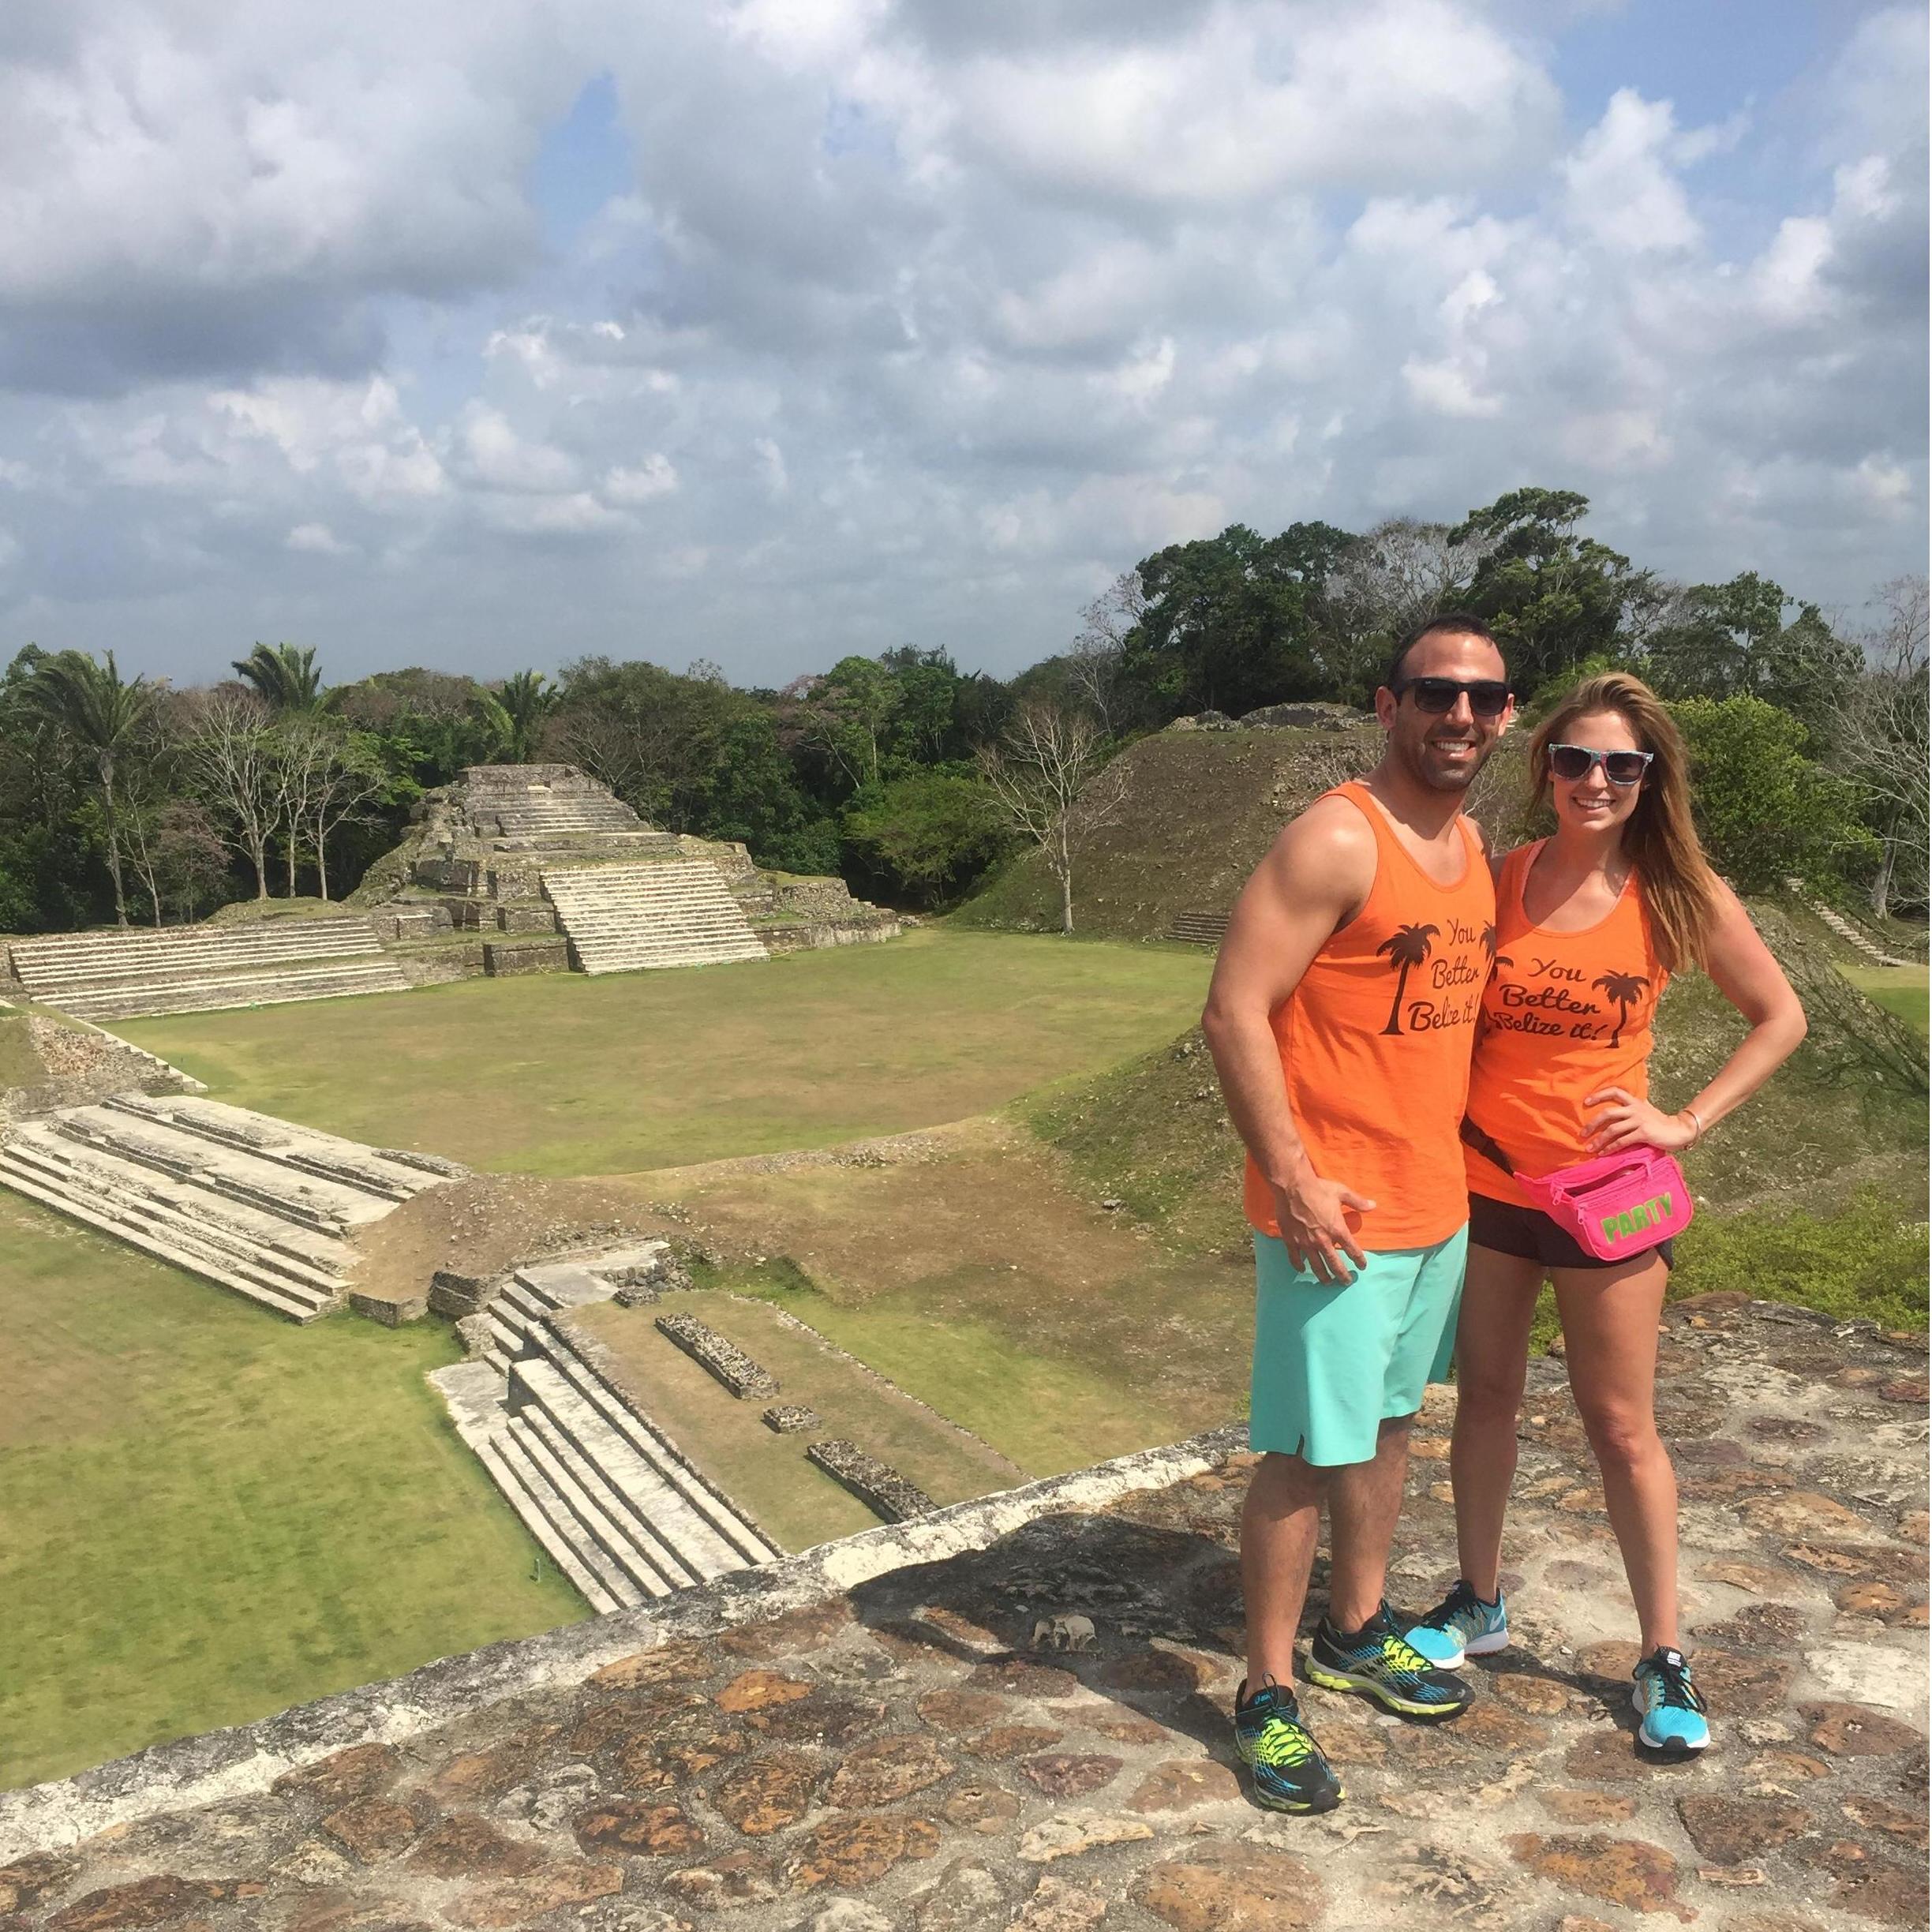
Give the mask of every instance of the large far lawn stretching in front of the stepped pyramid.
M 128 1020 L 218 1099 L 498 1173 L 833 1146 L 1001 1107 L 1171 1037 L 1200 952 L 923 927 L 692 972 L 464 980 Z

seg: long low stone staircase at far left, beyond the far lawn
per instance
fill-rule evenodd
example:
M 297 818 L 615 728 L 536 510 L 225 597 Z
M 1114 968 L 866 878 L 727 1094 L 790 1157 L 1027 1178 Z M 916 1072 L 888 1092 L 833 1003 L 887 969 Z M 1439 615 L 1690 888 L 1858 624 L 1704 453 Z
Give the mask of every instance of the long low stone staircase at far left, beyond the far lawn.
M 410 983 L 361 918 L 70 933 L 15 939 L 10 951 L 27 993 L 79 1020 L 398 993 Z

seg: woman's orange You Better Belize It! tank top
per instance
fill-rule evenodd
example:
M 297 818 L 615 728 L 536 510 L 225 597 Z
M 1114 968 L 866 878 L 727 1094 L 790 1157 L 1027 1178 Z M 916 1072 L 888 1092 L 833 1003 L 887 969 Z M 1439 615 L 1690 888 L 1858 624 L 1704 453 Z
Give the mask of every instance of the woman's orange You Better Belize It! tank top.
M 1482 1028 L 1468 1082 L 1468 1117 L 1519 1173 L 1548 1175 L 1592 1159 L 1584 1122 L 1607 1086 L 1648 1097 L 1650 1016 L 1665 974 L 1650 943 L 1636 873 L 1609 916 L 1580 933 L 1532 925 L 1522 883 L 1546 840 L 1503 860 L 1495 891 L 1495 964 L 1482 993 Z M 1464 1148 L 1468 1186 L 1528 1208 L 1493 1161 Z

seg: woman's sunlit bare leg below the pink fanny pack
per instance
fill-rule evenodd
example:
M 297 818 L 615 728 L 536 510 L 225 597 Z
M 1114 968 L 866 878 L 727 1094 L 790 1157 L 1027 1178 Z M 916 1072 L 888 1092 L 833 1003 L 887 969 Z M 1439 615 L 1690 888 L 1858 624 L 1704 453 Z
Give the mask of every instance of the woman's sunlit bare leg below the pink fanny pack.
M 1669 1269 L 1652 1252 L 1627 1267 L 1559 1267 L 1553 1277 L 1571 1391 L 1604 1478 L 1644 1656 L 1658 1644 L 1677 1648 L 1677 1472 L 1654 1401 Z

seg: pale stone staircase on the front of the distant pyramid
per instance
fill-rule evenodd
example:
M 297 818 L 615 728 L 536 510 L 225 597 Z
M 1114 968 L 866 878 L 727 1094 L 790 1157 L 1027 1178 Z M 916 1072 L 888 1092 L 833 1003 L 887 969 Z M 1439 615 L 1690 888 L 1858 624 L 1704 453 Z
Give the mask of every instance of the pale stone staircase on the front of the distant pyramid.
M 701 860 L 545 869 L 543 896 L 587 974 L 769 956 L 723 873 Z

